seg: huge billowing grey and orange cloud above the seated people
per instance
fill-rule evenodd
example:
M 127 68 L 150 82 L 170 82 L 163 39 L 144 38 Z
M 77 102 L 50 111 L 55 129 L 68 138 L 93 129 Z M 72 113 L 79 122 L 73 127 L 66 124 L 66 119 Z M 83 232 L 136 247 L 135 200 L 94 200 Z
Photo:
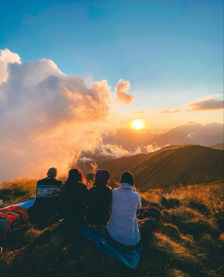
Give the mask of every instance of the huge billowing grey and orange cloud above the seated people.
M 51 166 L 65 174 L 82 149 L 102 141 L 111 107 L 107 80 L 87 85 L 51 60 L 21 62 L 7 49 L 0 76 L 1 180 L 40 178 Z

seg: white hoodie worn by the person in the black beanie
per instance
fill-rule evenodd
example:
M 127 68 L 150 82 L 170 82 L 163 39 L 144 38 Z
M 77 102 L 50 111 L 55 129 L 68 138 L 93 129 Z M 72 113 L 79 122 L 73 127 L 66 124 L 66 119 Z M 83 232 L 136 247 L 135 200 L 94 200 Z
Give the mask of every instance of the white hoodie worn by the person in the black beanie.
M 135 187 L 121 183 L 112 192 L 112 210 L 107 231 L 112 239 L 133 246 L 140 241 L 136 210 L 142 207 Z

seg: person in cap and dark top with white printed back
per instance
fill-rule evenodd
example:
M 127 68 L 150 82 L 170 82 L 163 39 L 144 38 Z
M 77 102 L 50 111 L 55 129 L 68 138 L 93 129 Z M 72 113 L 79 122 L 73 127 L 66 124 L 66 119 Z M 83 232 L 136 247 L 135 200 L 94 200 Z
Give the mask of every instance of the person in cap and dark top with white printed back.
M 37 181 L 36 200 L 28 209 L 31 220 L 43 227 L 60 208 L 62 182 L 56 180 L 57 174 L 58 169 L 51 167 L 47 171 L 47 177 Z

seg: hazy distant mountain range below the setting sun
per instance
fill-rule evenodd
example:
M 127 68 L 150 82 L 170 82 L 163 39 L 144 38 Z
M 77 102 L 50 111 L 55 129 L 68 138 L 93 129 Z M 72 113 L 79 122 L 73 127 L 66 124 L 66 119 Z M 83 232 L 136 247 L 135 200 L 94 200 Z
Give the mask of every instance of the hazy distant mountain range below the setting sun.
M 117 144 L 125 149 L 134 151 L 141 147 L 142 153 L 147 153 L 145 147 L 149 144 L 164 147 L 167 144 L 199 144 L 203 146 L 214 145 L 223 142 L 224 125 L 219 123 L 189 122 L 173 129 L 140 129 L 131 130 L 120 128 L 107 131 L 103 134 L 103 144 Z

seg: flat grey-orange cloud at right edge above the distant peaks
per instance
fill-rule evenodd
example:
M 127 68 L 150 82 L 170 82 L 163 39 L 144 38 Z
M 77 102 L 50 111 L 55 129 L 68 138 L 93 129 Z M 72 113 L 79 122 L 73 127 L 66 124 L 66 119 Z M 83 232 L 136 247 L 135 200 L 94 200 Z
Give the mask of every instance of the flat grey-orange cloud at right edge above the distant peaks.
M 223 95 L 211 94 L 187 105 L 187 112 L 223 109 Z

